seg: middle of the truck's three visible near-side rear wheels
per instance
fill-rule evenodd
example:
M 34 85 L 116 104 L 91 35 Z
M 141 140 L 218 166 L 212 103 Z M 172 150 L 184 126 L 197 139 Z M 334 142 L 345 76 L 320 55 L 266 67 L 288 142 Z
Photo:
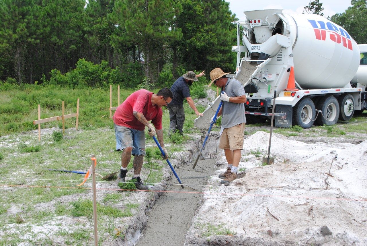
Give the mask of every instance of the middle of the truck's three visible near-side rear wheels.
M 333 96 L 327 96 L 319 101 L 317 109 L 321 110 L 319 116 L 317 116 L 317 123 L 320 126 L 327 125 L 332 126 L 337 123 L 340 113 L 338 100 Z

